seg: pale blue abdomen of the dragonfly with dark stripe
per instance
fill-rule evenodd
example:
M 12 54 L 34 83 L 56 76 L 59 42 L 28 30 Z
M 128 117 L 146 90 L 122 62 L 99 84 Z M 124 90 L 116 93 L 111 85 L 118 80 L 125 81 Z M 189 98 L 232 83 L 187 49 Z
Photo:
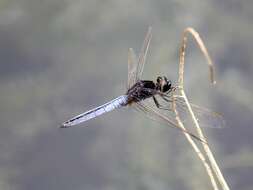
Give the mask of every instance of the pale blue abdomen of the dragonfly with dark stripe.
M 105 103 L 104 105 L 101 105 L 101 106 L 96 107 L 92 110 L 84 112 L 74 118 L 69 119 L 68 121 L 66 121 L 62 124 L 61 128 L 68 128 L 68 127 L 80 124 L 82 122 L 88 121 L 88 120 L 95 118 L 99 115 L 110 112 L 116 108 L 120 108 L 122 106 L 125 106 L 125 105 L 127 105 L 127 103 L 128 103 L 127 95 L 119 96 L 119 97 L 113 99 L 112 101 Z

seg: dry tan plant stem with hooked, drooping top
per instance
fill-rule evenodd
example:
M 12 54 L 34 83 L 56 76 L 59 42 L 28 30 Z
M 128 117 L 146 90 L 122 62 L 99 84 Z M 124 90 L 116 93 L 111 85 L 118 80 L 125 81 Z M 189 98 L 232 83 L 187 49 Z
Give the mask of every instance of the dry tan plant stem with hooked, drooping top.
M 202 51 L 202 53 L 204 54 L 204 56 L 206 57 L 207 59 L 207 63 L 208 63 L 208 66 L 209 66 L 209 71 L 210 71 L 210 79 L 211 79 L 211 82 L 213 84 L 215 84 L 215 81 L 214 81 L 214 69 L 213 69 L 213 64 L 212 64 L 212 61 L 210 59 L 210 56 L 207 52 L 207 49 L 203 43 L 203 41 L 201 40 L 201 38 L 199 37 L 199 34 L 193 29 L 193 28 L 186 28 L 184 33 L 183 33 L 183 41 L 182 41 L 182 47 L 180 49 L 180 62 L 179 62 L 179 79 L 178 79 L 178 82 L 179 82 L 179 92 L 181 93 L 181 96 L 183 97 L 183 99 L 185 100 L 185 103 L 187 105 L 187 108 L 190 112 L 190 115 L 193 119 L 193 122 L 194 122 L 194 126 L 196 127 L 197 129 L 197 132 L 199 134 L 199 137 L 201 139 L 203 139 L 205 142 L 206 141 L 206 138 L 199 126 L 199 123 L 198 123 L 198 120 L 197 118 L 195 117 L 195 114 L 194 112 L 192 111 L 192 108 L 190 106 L 190 103 L 185 95 L 185 92 L 184 92 L 184 84 L 183 84 L 183 79 L 184 79 L 184 59 L 185 59 L 185 49 L 186 49 L 186 43 L 187 43 L 187 34 L 190 33 L 194 39 L 197 41 L 197 44 L 199 45 L 200 47 L 200 50 Z M 212 166 L 212 169 L 214 170 L 215 174 L 216 174 L 216 177 L 217 179 L 219 180 L 221 186 L 223 189 L 225 190 L 229 190 L 229 187 L 219 169 L 219 166 L 217 165 L 215 159 L 214 159 L 214 156 L 208 146 L 207 143 L 203 143 L 202 142 L 202 146 L 204 148 L 204 151 L 206 153 L 206 156 L 208 157 L 210 163 L 211 163 L 211 166 Z M 203 162 L 203 160 L 202 160 Z M 205 164 L 205 163 L 204 163 Z M 210 175 L 209 175 L 210 176 Z

